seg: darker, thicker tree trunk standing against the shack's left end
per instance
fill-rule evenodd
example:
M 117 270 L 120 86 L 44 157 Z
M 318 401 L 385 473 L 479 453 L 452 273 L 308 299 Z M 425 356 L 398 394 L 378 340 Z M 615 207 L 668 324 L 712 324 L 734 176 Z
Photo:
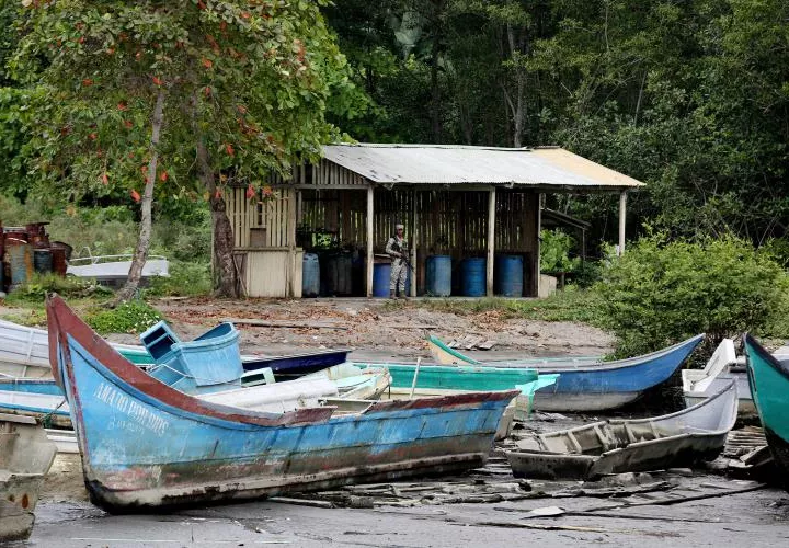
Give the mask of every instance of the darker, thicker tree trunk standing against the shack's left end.
M 208 191 L 208 203 L 211 210 L 211 226 L 214 229 L 214 264 L 219 274 L 214 287 L 217 297 L 238 298 L 238 276 L 233 261 L 233 235 L 230 219 L 227 216 L 225 198 L 217 192 L 214 170 L 210 168 L 208 150 L 202 136 L 197 137 L 197 175 Z

